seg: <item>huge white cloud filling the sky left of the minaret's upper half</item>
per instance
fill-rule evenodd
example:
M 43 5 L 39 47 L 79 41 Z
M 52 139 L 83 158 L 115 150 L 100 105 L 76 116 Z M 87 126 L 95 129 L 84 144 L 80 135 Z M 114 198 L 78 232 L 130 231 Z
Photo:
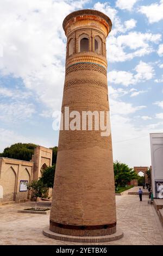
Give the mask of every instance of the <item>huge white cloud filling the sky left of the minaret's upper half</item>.
M 60 109 L 64 86 L 66 37 L 62 21 L 86 2 L 15 0 L 1 4 L 1 75 L 20 77 L 50 109 Z

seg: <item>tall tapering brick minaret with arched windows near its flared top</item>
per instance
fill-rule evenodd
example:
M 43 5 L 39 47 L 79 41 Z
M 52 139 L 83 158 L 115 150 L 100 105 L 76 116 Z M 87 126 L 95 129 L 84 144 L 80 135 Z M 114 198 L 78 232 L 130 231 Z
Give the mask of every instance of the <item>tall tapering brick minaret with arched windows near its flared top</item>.
M 65 107 L 70 113 L 109 111 L 106 36 L 111 26 L 109 17 L 96 10 L 74 11 L 65 18 L 62 113 Z M 111 135 L 102 137 L 95 129 L 60 131 L 50 230 L 79 237 L 116 233 Z

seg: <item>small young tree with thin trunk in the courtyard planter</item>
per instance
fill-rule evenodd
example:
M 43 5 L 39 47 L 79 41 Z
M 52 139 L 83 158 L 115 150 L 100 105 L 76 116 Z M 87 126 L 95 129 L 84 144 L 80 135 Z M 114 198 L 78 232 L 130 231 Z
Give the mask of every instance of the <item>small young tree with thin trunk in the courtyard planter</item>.
M 35 199 L 35 210 L 37 209 L 37 198 L 38 197 L 46 197 L 46 193 L 48 188 L 45 187 L 42 180 L 33 180 L 30 184 L 27 185 L 28 190 L 32 190 Z

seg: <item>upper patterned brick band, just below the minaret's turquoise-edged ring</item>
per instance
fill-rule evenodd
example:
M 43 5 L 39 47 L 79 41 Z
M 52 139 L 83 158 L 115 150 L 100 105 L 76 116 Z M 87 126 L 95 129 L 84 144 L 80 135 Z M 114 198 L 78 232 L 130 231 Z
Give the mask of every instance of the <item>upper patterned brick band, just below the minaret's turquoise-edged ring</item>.
M 79 62 L 68 66 L 68 68 L 66 69 L 66 75 L 79 70 L 97 71 L 104 74 L 105 76 L 107 75 L 106 69 L 103 66 L 91 62 Z

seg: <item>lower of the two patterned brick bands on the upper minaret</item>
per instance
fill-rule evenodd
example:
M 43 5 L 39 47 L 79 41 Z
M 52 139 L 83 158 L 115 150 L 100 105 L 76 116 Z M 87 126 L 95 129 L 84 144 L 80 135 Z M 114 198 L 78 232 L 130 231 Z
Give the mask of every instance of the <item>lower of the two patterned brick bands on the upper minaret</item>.
M 103 83 L 102 81 L 90 78 L 83 79 L 73 79 L 65 83 L 65 88 L 70 88 L 71 86 L 76 86 L 76 84 L 95 84 L 95 86 L 100 86 L 105 89 L 108 89 L 108 85 Z

